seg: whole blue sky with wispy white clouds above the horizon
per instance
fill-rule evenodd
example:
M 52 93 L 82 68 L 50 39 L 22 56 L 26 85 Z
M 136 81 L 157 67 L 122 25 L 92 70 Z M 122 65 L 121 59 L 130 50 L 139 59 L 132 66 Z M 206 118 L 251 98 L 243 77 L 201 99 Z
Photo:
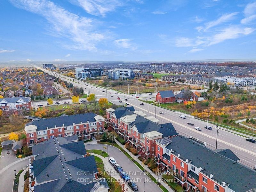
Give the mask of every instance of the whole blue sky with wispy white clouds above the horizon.
M 4 0 L 0 61 L 256 58 L 256 1 Z

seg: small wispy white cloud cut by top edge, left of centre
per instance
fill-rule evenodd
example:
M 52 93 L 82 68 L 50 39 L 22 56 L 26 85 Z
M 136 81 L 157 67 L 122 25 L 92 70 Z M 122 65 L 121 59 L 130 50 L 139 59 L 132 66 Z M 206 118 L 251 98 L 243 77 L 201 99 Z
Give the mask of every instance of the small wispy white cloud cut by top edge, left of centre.
M 114 11 L 116 7 L 123 5 L 118 0 L 75 0 L 87 13 L 105 17 L 107 12 Z

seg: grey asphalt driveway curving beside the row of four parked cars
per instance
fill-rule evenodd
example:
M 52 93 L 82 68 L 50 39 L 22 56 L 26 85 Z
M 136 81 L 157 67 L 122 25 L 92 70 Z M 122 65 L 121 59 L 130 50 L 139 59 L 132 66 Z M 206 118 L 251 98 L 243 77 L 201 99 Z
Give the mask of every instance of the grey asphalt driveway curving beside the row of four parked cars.
M 103 147 L 107 147 L 107 145 L 104 144 L 85 144 L 86 150 L 88 149 L 99 149 L 104 150 Z M 143 191 L 143 182 L 145 181 L 145 191 L 147 192 L 160 192 L 161 189 L 148 178 L 147 175 L 144 175 L 144 172 L 140 170 L 122 151 L 120 151 L 118 148 L 115 148 L 111 145 L 108 145 L 108 153 L 110 157 L 114 157 L 116 162 L 121 165 L 124 172 L 127 172 L 130 177 L 137 183 L 139 190 Z M 113 168 L 114 172 L 114 168 Z

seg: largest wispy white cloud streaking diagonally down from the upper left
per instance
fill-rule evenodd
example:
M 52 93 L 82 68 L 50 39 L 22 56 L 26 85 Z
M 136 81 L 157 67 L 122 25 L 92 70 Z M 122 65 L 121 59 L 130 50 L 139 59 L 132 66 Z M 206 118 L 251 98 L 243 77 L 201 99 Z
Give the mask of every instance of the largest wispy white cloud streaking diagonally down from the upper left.
M 61 6 L 48 0 L 11 0 L 16 7 L 43 16 L 51 25 L 49 31 L 53 36 L 71 39 L 74 44 L 67 48 L 96 51 L 97 42 L 106 36 L 95 33 L 96 20 L 68 12 Z

